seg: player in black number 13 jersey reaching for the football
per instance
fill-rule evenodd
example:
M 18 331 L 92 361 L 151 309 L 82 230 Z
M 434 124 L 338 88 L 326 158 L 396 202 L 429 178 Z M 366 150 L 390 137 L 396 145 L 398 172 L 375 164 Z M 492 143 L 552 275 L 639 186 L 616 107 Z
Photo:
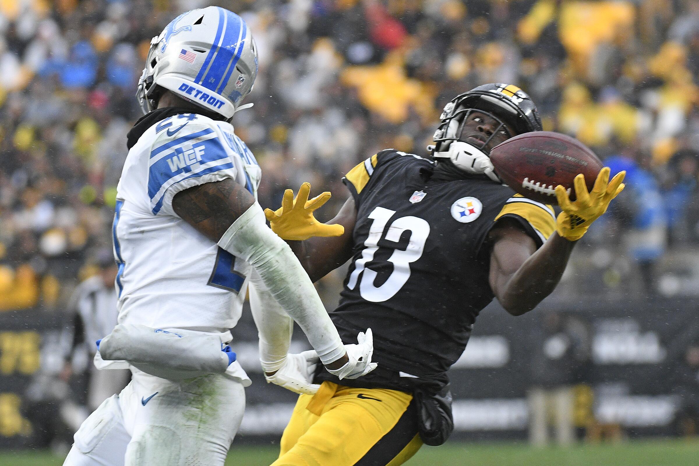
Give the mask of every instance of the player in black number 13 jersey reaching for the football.
M 579 175 L 576 201 L 556 189 L 556 219 L 550 205 L 504 186 L 489 152 L 542 129 L 519 87 L 477 87 L 440 118 L 431 158 L 389 149 L 350 170 L 352 196 L 329 224 L 312 216 L 329 194 L 307 201 L 308 184 L 266 212 L 314 281 L 352 260 L 331 317 L 345 343 L 372 328 L 378 363 L 347 381 L 320 367 L 322 385 L 298 399 L 275 466 L 396 466 L 423 442 L 444 442 L 453 426 L 447 371 L 478 313 L 493 297 L 514 316 L 538 305 L 575 240 L 624 188 L 624 174 L 610 182 L 608 168 L 591 192 Z

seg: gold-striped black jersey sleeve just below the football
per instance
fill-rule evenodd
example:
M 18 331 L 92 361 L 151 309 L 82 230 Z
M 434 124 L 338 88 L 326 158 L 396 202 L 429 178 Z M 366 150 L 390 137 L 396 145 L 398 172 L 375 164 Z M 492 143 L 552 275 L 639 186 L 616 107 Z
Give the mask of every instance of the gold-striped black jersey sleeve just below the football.
M 538 203 L 515 194 L 507 199 L 495 221 L 511 217 L 519 221 L 524 231 L 541 247 L 556 230 L 556 214 L 551 205 Z

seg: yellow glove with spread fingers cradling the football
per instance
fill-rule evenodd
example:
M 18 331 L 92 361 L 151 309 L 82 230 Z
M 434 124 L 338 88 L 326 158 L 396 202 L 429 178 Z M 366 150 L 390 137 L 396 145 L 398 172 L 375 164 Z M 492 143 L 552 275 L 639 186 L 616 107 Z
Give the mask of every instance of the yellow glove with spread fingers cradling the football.
M 625 171 L 617 173 L 610 182 L 610 168 L 600 170 L 591 192 L 587 192 L 585 177 L 577 175 L 575 186 L 575 201 L 570 201 L 568 192 L 560 184 L 556 186 L 556 198 L 563 212 L 556 219 L 556 231 L 566 240 L 576 241 L 582 238 L 593 221 L 607 212 L 612 199 L 624 190 Z

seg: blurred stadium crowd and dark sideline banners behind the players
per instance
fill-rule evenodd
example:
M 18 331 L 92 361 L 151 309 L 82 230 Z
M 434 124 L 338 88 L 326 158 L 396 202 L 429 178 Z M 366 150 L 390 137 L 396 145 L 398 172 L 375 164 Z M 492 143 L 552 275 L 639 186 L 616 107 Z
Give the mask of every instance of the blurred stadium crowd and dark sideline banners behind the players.
M 699 398 L 685 357 L 699 345 L 699 2 L 212 3 L 240 13 L 259 48 L 255 105 L 233 124 L 261 164 L 263 207 L 309 181 L 333 192 L 327 219 L 347 197 L 349 168 L 386 147 L 422 154 L 442 106 L 484 82 L 522 87 L 545 129 L 627 170 L 626 191 L 542 310 L 482 313 L 454 369 L 456 440 L 526 438 L 526 393 L 540 378 L 532 355 L 552 312 L 582 329 L 587 348 L 570 368 L 581 436 L 610 425 L 621 437 L 686 431 L 678 416 Z M 58 383 L 66 303 L 110 247 L 150 38 L 208 4 L 0 1 L 0 448 L 52 442 L 50 422 L 29 421 L 28 393 Z M 329 309 L 342 278 L 319 284 Z M 255 377 L 238 441 L 269 442 L 294 396 L 261 381 L 249 316 L 235 335 Z M 73 356 L 76 372 L 86 364 Z M 73 377 L 48 406 L 82 390 Z

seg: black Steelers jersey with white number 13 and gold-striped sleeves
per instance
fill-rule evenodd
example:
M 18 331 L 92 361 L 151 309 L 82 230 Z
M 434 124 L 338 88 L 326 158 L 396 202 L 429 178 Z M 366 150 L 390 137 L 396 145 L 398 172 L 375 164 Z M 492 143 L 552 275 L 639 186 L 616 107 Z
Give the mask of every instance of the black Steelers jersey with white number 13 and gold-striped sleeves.
M 353 381 L 410 390 L 444 374 L 466 348 L 478 313 L 493 299 L 489 251 L 497 219 L 512 217 L 538 246 L 555 228 L 551 206 L 481 177 L 427 179 L 433 161 L 384 150 L 343 182 L 356 203 L 354 256 L 340 305 L 331 312 L 345 343 L 371 328 L 379 368 Z

